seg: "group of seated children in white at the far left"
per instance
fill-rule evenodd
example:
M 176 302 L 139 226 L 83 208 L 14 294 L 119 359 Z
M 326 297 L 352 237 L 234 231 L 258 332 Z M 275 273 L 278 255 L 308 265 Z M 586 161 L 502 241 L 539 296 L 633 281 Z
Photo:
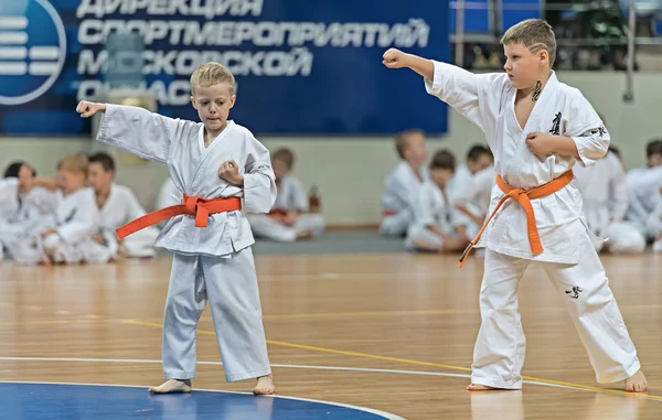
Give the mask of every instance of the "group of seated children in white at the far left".
M 115 162 L 103 152 L 64 157 L 53 179 L 12 163 L 0 181 L 0 256 L 22 265 L 156 256 L 156 228 L 117 239 L 116 228 L 146 212 L 114 179 Z

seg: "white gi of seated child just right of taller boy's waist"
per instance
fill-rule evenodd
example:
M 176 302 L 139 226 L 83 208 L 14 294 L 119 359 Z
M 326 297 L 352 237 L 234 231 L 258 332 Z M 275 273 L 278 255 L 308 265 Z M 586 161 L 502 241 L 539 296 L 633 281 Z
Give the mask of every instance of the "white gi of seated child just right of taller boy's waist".
M 618 157 L 608 152 L 591 166 L 574 168 L 581 192 L 583 212 L 590 230 L 608 241 L 594 240 L 596 250 L 606 246 L 611 252 L 641 254 L 645 238 L 636 225 L 624 222 L 628 186 Z

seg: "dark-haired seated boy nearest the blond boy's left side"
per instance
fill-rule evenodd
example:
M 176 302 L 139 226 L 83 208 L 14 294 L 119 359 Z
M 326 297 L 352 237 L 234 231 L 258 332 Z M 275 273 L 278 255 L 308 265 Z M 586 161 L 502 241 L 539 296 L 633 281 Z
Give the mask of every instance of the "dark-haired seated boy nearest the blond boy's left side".
M 89 157 L 89 185 L 94 187 L 96 203 L 99 207 L 99 231 L 94 236 L 99 250 L 108 254 L 108 259 L 116 257 L 149 258 L 156 257 L 153 244 L 159 229 L 149 226 L 134 235 L 117 240 L 115 229 L 143 216 L 147 212 L 138 202 L 136 194 L 115 180 L 115 161 L 108 153 L 98 152 Z

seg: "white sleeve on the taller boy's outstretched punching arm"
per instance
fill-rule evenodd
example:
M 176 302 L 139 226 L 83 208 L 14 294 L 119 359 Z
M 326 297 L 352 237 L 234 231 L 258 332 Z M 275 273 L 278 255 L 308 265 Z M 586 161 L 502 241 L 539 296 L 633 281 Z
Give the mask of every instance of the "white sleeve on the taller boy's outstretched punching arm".
M 425 78 L 428 94 L 450 105 L 483 132 L 495 128 L 504 74 L 474 74 L 452 64 L 433 61 L 434 78 Z

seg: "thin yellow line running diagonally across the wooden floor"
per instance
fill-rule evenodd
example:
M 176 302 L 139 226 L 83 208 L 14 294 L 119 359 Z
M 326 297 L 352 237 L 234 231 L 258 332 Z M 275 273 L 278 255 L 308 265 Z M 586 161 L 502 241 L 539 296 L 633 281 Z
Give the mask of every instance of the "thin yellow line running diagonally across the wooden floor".
M 152 327 L 159 327 L 159 329 L 163 327 L 161 324 L 156 324 L 152 322 L 143 322 L 143 321 L 138 321 L 138 320 L 122 320 L 121 322 L 126 323 L 126 324 L 132 324 L 132 325 L 143 325 L 143 326 L 152 326 Z M 213 331 L 207 331 L 207 330 L 199 330 L 197 333 L 204 334 L 204 335 L 216 335 L 216 333 L 214 333 Z M 467 367 L 455 366 L 455 365 L 445 365 L 445 364 L 433 363 L 433 362 L 421 362 L 421 360 L 414 360 L 414 359 L 401 358 L 401 357 L 381 356 L 381 355 L 375 355 L 375 354 L 370 354 L 370 353 L 348 352 L 348 351 L 341 351 L 341 349 L 335 349 L 335 348 L 309 346 L 309 345 L 305 345 L 305 344 L 288 343 L 288 342 L 281 342 L 281 341 L 275 341 L 275 340 L 267 340 L 267 343 L 273 344 L 273 345 L 282 346 L 282 347 L 309 349 L 309 351 L 313 351 L 313 352 L 340 354 L 340 355 L 344 355 L 344 356 L 355 356 L 355 357 L 372 358 L 372 359 L 377 359 L 377 360 L 397 362 L 397 363 L 409 364 L 409 365 L 431 366 L 431 367 L 439 367 L 439 368 L 451 369 L 451 370 L 471 371 L 471 369 L 467 368 Z M 537 378 L 537 377 L 532 377 L 532 376 L 522 376 L 522 379 L 527 381 L 528 384 L 537 383 L 537 384 L 556 385 L 556 386 L 560 386 L 560 387 L 568 387 L 572 389 L 581 389 L 581 390 L 591 390 L 591 391 L 596 391 L 596 392 L 634 396 L 638 398 L 645 398 L 645 399 L 651 399 L 651 400 L 655 400 L 655 401 L 662 401 L 662 396 L 651 395 L 651 394 L 628 392 L 626 390 L 594 387 L 590 385 L 567 383 L 567 381 L 563 381 L 563 380 L 544 379 L 544 378 Z

